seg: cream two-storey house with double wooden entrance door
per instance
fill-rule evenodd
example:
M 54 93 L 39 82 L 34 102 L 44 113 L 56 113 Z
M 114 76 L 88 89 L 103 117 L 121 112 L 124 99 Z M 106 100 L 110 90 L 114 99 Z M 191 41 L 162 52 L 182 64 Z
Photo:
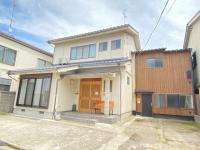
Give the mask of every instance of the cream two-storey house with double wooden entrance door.
M 49 41 L 55 45 L 53 66 L 10 71 L 20 75 L 14 113 L 53 118 L 56 113 L 101 112 L 130 115 L 135 109 L 135 69 L 131 52 L 140 49 L 138 32 L 130 25 Z M 74 107 L 75 108 L 75 107 Z M 73 109 L 74 109 L 73 108 Z

